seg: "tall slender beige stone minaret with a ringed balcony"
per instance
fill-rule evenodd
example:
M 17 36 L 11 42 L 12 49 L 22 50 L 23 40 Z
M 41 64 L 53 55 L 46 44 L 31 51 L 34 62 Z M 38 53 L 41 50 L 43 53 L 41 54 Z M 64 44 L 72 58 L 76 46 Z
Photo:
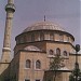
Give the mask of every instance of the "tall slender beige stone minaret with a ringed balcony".
M 13 13 L 15 12 L 15 5 L 13 0 L 8 0 L 8 4 L 5 5 L 5 12 L 6 12 L 6 19 L 5 19 L 5 30 L 4 30 L 1 63 L 11 62 L 11 29 L 12 29 Z

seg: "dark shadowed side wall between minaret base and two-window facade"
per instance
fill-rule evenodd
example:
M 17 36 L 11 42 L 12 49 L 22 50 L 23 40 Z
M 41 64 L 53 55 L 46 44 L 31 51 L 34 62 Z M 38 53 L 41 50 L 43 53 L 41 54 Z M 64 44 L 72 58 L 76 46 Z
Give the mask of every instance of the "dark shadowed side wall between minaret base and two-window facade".
M 10 68 L 10 81 L 18 81 L 19 54 L 17 54 L 11 60 L 11 64 L 10 64 L 9 68 Z

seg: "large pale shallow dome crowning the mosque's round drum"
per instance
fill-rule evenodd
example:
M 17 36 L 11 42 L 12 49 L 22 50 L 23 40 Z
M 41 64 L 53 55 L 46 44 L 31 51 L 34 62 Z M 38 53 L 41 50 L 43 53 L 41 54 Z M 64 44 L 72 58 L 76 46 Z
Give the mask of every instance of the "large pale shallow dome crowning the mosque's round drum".
M 62 28 L 59 25 L 57 24 L 54 24 L 52 22 L 39 22 L 39 23 L 36 23 L 29 27 L 27 27 L 24 32 L 27 32 L 27 31 L 32 31 L 32 30 L 59 30 L 59 31 L 65 31 L 64 28 Z

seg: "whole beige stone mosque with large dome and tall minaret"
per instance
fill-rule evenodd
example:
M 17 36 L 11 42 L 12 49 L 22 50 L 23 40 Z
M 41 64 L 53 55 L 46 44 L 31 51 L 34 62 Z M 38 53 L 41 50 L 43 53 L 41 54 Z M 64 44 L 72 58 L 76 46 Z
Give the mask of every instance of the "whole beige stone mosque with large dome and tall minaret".
M 11 59 L 11 28 L 15 12 L 14 1 L 5 5 L 5 31 L 0 62 L 0 81 L 54 81 L 51 60 L 64 57 L 64 67 L 57 69 L 55 81 L 69 81 L 75 65 L 75 37 L 53 22 L 38 22 L 27 26 L 15 37 L 14 57 Z M 78 56 L 81 64 L 81 56 Z

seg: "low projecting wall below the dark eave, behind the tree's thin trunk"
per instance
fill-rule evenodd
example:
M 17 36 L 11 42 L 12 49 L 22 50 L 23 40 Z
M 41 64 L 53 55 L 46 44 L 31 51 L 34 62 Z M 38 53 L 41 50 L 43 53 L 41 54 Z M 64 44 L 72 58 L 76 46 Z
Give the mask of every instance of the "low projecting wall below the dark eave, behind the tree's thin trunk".
M 44 81 L 69 81 L 68 79 L 69 73 L 68 72 L 62 72 L 62 71 L 56 71 L 56 77 L 54 71 L 45 71 L 45 78 Z

